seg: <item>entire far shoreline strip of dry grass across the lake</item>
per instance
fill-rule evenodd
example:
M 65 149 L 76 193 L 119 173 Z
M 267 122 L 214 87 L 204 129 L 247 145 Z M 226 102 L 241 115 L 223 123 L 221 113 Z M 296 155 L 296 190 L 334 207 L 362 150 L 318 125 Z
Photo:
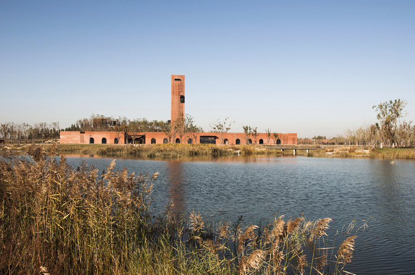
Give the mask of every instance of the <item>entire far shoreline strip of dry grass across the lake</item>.
M 53 144 L 36 144 L 51 150 Z M 1 151 L 26 152 L 30 144 L 24 145 L 1 145 Z M 299 145 L 301 146 L 301 145 Z M 383 159 L 415 159 L 415 148 L 374 148 L 369 150 L 367 146 L 332 146 L 310 150 L 297 150 L 297 155 L 306 157 L 325 158 L 383 158 Z M 96 156 L 135 156 L 150 159 L 183 158 L 197 156 L 249 156 L 249 155 L 293 155 L 292 150 L 264 148 L 260 145 L 211 145 L 211 144 L 160 144 L 160 145 L 78 145 L 58 144 L 58 154 L 80 154 Z

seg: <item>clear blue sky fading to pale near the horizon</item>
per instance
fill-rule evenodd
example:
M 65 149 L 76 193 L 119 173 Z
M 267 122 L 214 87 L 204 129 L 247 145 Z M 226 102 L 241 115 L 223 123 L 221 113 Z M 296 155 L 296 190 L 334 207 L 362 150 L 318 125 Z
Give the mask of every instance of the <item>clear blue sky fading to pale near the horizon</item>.
M 299 138 L 415 121 L 415 1 L 0 0 L 0 122 L 170 119 L 170 75 L 205 131 Z

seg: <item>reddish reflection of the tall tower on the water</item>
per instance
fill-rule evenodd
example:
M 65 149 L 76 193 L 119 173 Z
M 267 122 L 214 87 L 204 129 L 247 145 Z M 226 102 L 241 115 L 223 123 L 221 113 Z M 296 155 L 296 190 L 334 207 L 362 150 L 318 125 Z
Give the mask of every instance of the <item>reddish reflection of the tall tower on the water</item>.
M 170 199 L 175 205 L 173 213 L 175 215 L 183 213 L 186 210 L 185 190 L 183 189 L 183 162 L 169 161 L 167 162 L 169 171 L 169 193 Z

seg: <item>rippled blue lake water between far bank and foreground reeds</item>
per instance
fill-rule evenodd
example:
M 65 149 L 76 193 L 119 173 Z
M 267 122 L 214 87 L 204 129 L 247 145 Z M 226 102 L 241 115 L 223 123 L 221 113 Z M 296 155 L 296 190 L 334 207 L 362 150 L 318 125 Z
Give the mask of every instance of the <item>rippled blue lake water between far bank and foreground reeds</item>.
M 112 160 L 68 157 L 67 162 L 77 167 L 83 159 L 99 170 Z M 353 219 L 362 223 L 371 217 L 369 228 L 357 233 L 353 263 L 344 269 L 415 273 L 415 161 L 283 156 L 116 163 L 130 172 L 160 173 L 153 193 L 157 210 L 173 200 L 177 211 L 215 212 L 216 221 L 244 215 L 252 223 L 303 213 L 312 220 L 332 218 L 332 234 Z

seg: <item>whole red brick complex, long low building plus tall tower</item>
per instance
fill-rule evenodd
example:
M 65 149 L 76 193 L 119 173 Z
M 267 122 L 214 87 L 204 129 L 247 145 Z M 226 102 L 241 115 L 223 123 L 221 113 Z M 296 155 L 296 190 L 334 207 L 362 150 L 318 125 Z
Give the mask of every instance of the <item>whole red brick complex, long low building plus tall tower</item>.
M 178 119 L 184 119 L 185 114 L 185 76 L 171 75 L 171 125 Z M 60 131 L 61 144 L 163 144 L 163 143 L 205 143 L 205 144 L 247 144 L 246 135 L 242 133 L 226 133 L 223 141 L 220 136 L 212 132 L 187 133 L 180 137 L 176 135 L 168 141 L 164 132 L 142 132 L 133 135 L 128 132 L 117 131 Z M 296 145 L 297 133 L 279 133 L 279 138 L 273 140 L 272 135 L 259 133 L 256 141 L 251 135 L 248 143 Z

